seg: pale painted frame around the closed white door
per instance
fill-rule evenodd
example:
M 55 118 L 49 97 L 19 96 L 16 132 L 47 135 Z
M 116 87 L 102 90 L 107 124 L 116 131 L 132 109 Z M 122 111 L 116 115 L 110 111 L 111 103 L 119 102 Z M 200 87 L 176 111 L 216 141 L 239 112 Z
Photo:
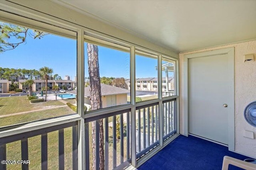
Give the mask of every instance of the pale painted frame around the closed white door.
M 228 55 L 228 75 L 231 76 L 232 86 L 228 90 L 228 98 L 232 99 L 228 103 L 228 150 L 235 150 L 235 115 L 234 115 L 234 47 L 225 49 L 218 49 L 213 51 L 205 51 L 200 53 L 193 53 L 184 55 L 184 76 L 183 76 L 183 90 L 184 90 L 184 103 L 182 109 L 184 111 L 184 135 L 189 133 L 189 59 L 197 57 L 207 57 L 214 55 Z

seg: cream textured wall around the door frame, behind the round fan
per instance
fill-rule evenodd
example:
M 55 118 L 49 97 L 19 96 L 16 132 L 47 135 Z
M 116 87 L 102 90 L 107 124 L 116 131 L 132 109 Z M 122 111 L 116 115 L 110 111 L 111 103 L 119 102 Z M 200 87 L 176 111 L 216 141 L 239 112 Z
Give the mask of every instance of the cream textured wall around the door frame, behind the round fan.
M 244 119 L 244 108 L 247 104 L 256 100 L 256 61 L 244 62 L 244 55 L 254 53 L 254 58 L 256 57 L 256 41 L 180 53 L 180 87 L 183 86 L 184 55 L 228 47 L 235 47 L 235 151 L 256 158 L 256 139 L 243 137 L 244 130 L 248 130 L 253 131 L 254 138 L 256 138 L 256 128 L 252 127 Z M 184 133 L 183 103 L 184 92 L 182 91 L 182 88 L 180 88 L 180 133 Z

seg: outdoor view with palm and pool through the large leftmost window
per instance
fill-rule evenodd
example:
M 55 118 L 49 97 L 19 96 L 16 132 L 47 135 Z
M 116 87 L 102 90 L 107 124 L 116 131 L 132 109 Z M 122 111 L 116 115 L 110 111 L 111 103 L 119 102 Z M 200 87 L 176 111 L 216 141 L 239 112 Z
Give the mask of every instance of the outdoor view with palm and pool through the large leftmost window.
M 0 59 L 0 127 L 76 113 L 76 39 L 0 22 Z

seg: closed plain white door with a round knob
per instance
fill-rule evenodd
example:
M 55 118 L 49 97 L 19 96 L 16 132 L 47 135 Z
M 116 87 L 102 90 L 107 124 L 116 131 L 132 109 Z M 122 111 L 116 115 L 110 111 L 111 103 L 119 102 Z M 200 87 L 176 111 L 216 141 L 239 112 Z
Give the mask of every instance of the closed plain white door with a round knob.
M 189 133 L 228 145 L 228 107 L 234 103 L 230 95 L 234 65 L 230 64 L 234 56 L 198 56 L 188 59 Z

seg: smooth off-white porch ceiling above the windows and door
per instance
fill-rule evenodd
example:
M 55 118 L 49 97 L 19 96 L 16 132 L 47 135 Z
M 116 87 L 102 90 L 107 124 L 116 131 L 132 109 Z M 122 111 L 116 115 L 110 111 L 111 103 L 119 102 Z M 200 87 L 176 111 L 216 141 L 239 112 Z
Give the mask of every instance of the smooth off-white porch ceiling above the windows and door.
M 256 0 L 57 0 L 178 52 L 256 39 Z

